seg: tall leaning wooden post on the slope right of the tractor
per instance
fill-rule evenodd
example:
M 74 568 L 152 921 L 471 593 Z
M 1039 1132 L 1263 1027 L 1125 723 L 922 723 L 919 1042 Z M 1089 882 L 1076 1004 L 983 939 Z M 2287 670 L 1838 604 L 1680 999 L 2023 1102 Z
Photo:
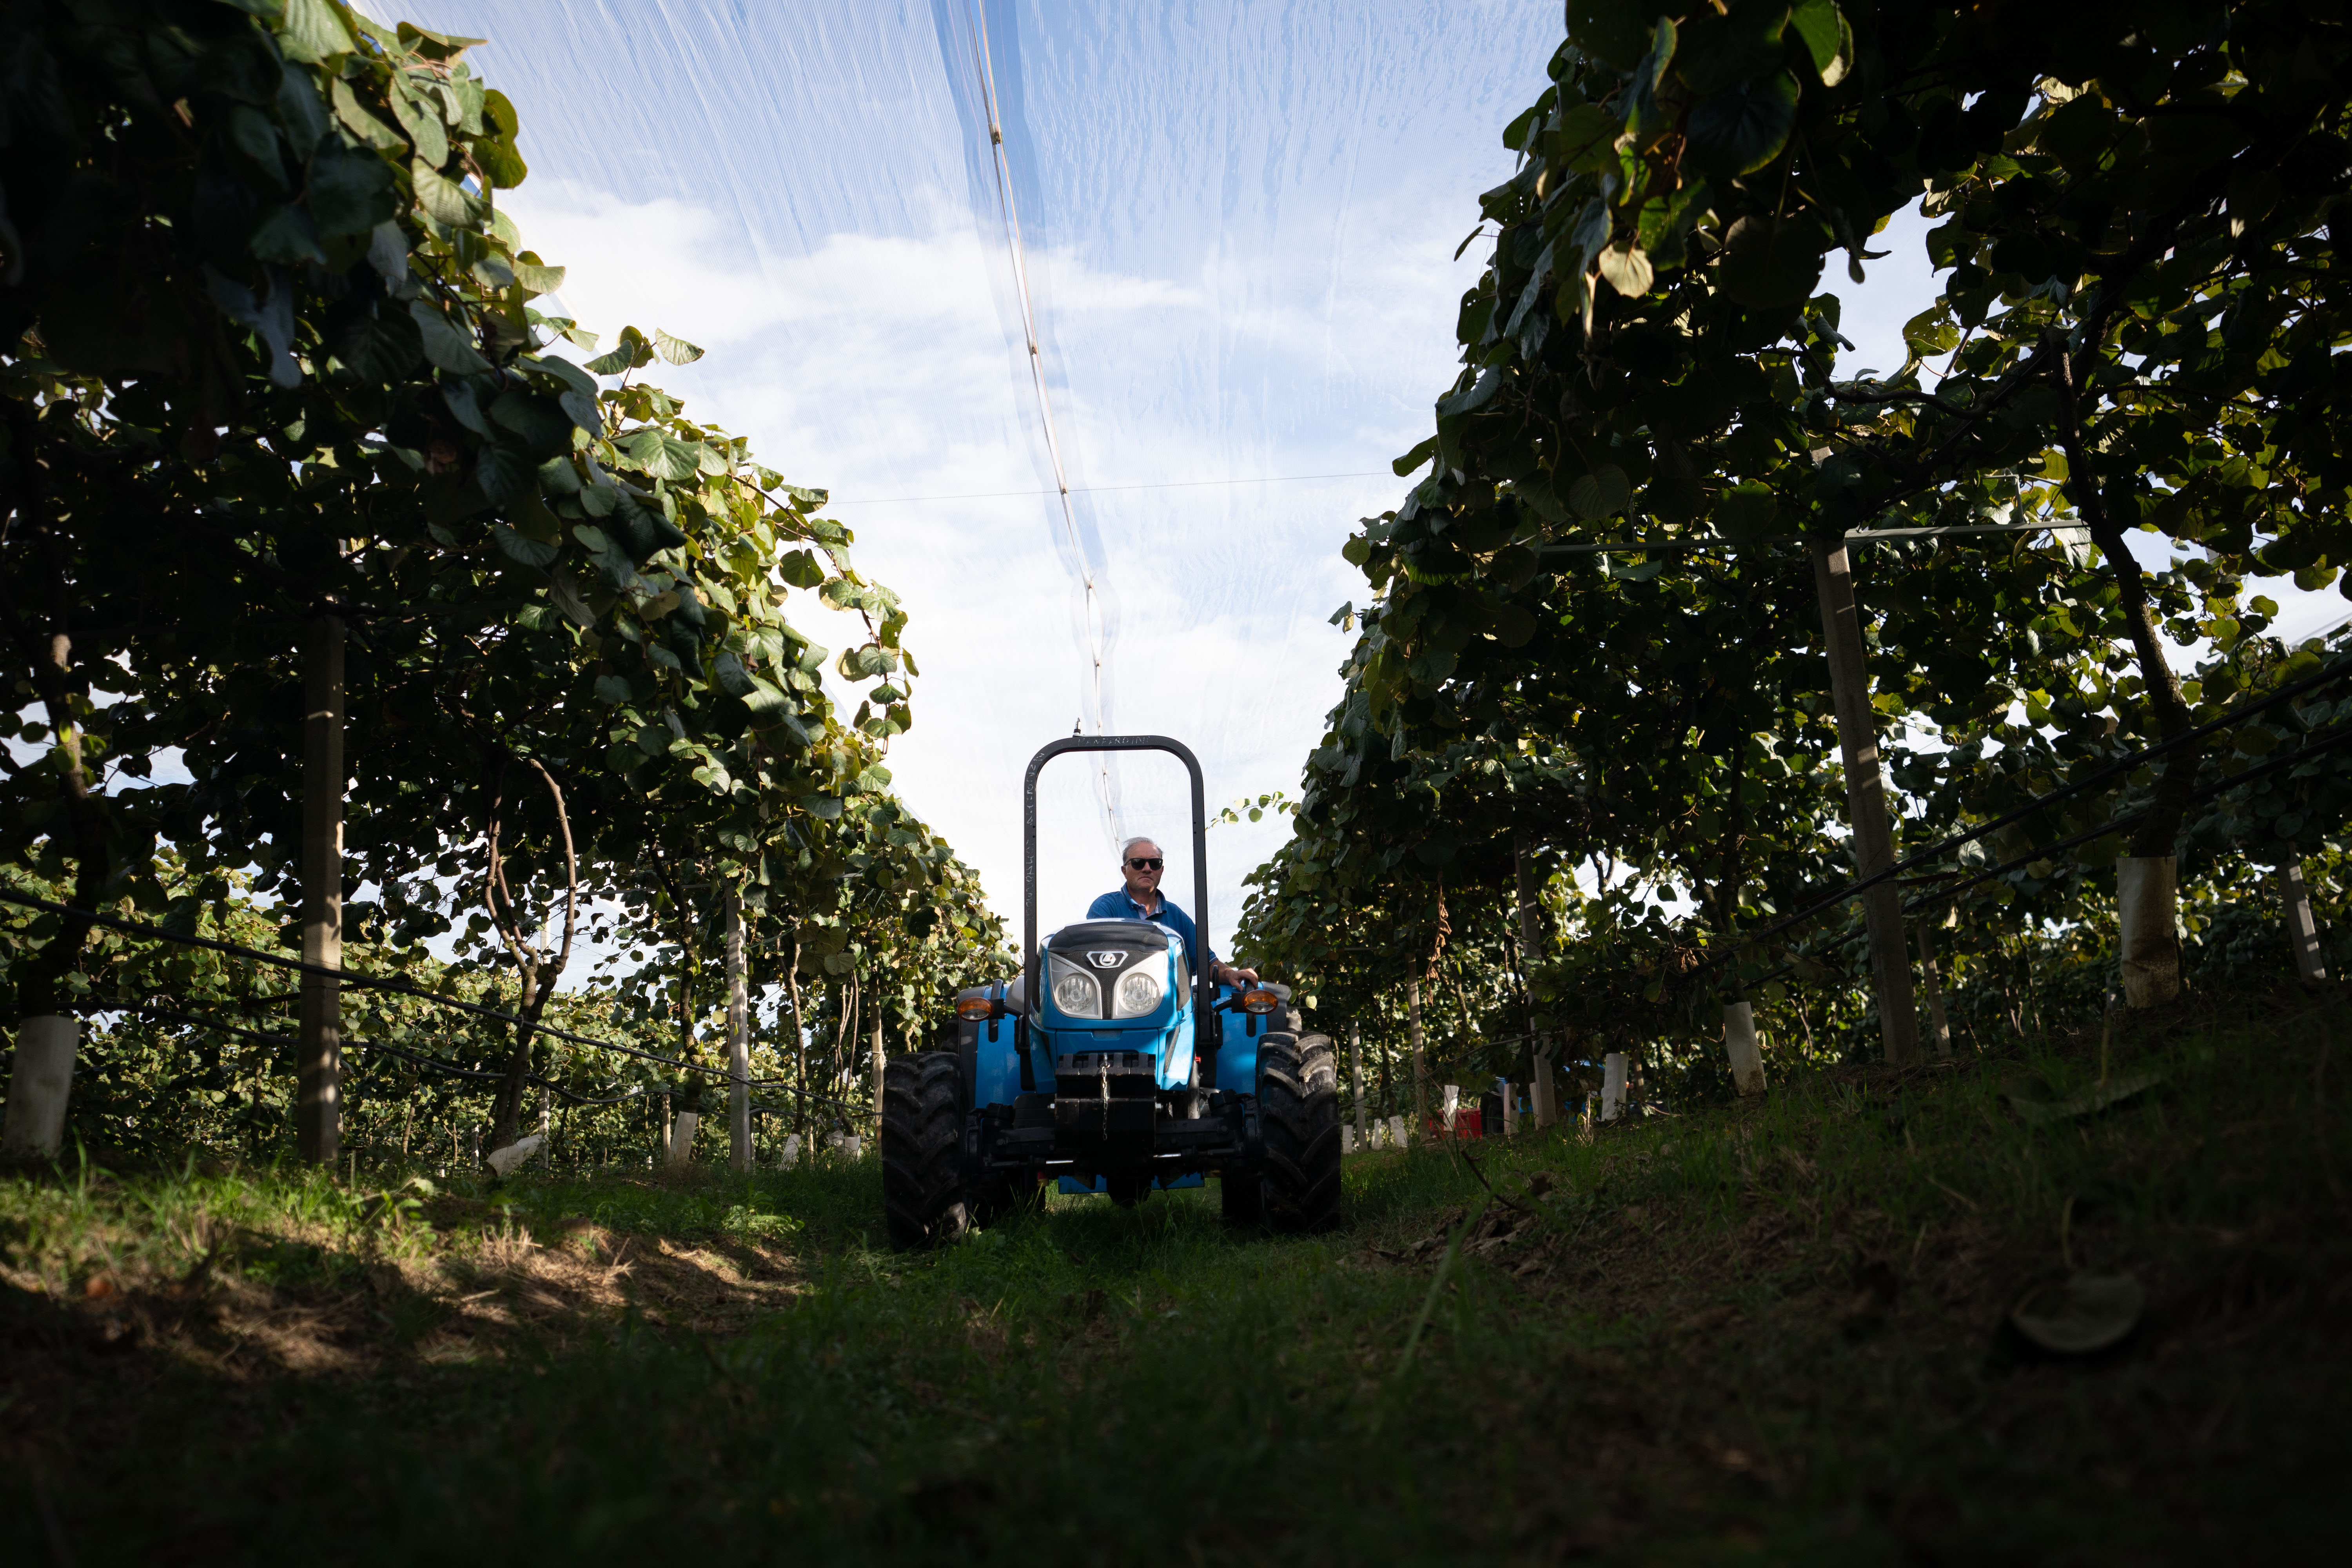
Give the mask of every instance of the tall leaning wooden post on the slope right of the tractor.
M 1879 771 L 1877 719 L 1870 708 L 1870 672 L 1863 668 L 1863 625 L 1853 611 L 1853 569 L 1846 545 L 1813 541 L 1813 588 L 1820 592 L 1820 637 L 1830 654 L 1830 698 L 1837 708 L 1837 750 L 1846 764 L 1846 825 L 1853 832 L 1853 867 L 1875 877 L 1896 863 L 1886 827 L 1886 780 Z M 1889 1063 L 1910 1063 L 1919 1051 L 1919 1013 L 1912 1004 L 1910 945 L 1903 938 L 1903 889 L 1893 877 L 1863 891 L 1863 926 L 1870 931 L 1870 983 L 1879 1001 L 1879 1039 Z

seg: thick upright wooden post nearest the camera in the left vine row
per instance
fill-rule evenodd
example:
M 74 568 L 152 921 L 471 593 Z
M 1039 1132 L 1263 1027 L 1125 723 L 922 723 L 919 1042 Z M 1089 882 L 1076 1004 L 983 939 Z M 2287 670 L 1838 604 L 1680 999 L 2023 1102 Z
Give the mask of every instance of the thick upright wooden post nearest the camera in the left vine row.
M 303 628 L 301 961 L 343 966 L 343 618 Z M 294 1037 L 294 1152 L 334 1166 L 343 1143 L 343 983 L 303 971 Z

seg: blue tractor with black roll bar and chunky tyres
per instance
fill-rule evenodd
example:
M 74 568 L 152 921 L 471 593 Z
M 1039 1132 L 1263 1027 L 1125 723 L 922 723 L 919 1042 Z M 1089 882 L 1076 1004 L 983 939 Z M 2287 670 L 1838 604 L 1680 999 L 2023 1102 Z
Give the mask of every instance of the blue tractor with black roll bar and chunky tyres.
M 1338 1070 L 1282 985 L 1218 985 L 1145 919 L 1037 938 L 1037 771 L 1063 752 L 1155 750 L 1192 773 L 1192 912 L 1209 926 L 1200 759 L 1167 736 L 1070 736 L 1023 785 L 1021 954 L 955 1001 L 955 1051 L 901 1056 L 882 1081 L 882 1192 L 894 1246 L 936 1246 L 1049 1185 L 1131 1206 L 1216 1178 L 1228 1225 L 1338 1220 Z M 1207 940 L 1207 936 L 1202 938 Z

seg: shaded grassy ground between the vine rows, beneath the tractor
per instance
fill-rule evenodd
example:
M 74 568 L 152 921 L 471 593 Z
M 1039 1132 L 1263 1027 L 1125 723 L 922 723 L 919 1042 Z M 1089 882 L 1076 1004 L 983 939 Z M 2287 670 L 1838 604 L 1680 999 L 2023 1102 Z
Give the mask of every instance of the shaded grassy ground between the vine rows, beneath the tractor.
M 2232 999 L 2119 1027 L 2164 1081 L 2091 1117 L 2013 1095 L 2093 1088 L 2096 1032 L 1364 1154 L 1289 1241 L 1211 1192 L 894 1255 L 870 1164 L 16 1178 L 0 1559 L 2312 1559 L 2338 1037 Z M 2122 1345 L 2004 1326 L 2077 1267 L 2143 1281 Z

